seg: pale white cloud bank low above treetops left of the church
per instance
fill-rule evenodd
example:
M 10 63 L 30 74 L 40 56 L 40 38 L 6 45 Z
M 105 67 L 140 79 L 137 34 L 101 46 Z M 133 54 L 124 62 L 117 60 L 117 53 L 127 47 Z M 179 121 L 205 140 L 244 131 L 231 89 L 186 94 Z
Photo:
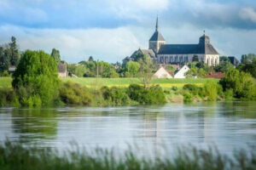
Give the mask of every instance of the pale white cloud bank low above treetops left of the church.
M 0 32 L 4 35 L 1 44 L 9 42 L 15 32 L 21 50 L 43 49 L 50 53 L 52 48 L 57 48 L 62 58 L 69 62 L 79 62 L 90 55 L 111 62 L 120 61 L 140 47 L 136 35 L 127 27 L 65 30 L 2 26 Z

